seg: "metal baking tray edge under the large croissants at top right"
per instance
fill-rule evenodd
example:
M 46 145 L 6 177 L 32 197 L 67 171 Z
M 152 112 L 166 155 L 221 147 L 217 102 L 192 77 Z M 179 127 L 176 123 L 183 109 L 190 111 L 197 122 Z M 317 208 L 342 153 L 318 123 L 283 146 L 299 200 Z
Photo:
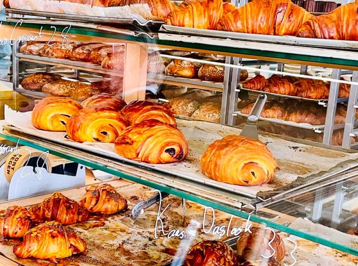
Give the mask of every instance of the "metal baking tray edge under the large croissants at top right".
M 301 38 L 295 36 L 275 36 L 264 34 L 251 34 L 218 30 L 206 30 L 206 29 L 194 29 L 186 27 L 177 27 L 171 25 L 162 25 L 160 32 L 163 33 L 177 33 L 177 34 L 189 34 L 206 37 L 216 37 L 223 39 L 233 40 L 248 40 L 259 41 L 269 43 L 279 43 L 282 45 L 296 45 L 296 46 L 308 46 L 308 47 L 321 47 L 329 49 L 344 49 L 358 51 L 358 41 L 350 40 L 331 40 L 331 39 L 315 39 L 315 38 Z

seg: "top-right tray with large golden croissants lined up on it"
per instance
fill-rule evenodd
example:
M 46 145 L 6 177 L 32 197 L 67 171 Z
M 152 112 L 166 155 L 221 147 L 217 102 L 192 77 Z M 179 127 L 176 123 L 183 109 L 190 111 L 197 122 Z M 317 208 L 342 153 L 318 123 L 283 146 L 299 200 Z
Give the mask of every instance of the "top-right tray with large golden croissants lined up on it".
M 161 32 L 356 50 L 357 7 L 353 2 L 315 16 L 290 0 L 254 0 L 240 8 L 187 1 L 166 16 Z

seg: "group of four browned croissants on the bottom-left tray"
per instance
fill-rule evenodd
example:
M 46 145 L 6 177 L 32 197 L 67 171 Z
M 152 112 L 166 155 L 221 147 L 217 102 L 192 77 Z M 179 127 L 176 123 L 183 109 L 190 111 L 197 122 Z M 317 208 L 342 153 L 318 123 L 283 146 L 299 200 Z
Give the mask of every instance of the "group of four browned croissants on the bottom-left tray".
M 80 202 L 59 192 L 28 208 L 12 206 L 0 212 L 0 235 L 23 238 L 13 247 L 20 258 L 57 259 L 86 250 L 86 241 L 64 227 L 86 221 L 92 213 L 114 214 L 125 211 L 127 201 L 108 184 L 86 189 Z

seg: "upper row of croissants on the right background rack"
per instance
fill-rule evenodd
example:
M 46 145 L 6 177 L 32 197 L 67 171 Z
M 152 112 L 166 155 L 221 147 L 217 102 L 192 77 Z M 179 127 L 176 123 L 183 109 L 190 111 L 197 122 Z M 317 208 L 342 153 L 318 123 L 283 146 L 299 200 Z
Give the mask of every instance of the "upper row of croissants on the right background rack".
M 328 99 L 329 83 L 317 79 L 296 79 L 290 76 L 272 75 L 266 79 L 261 75 L 242 82 L 242 87 L 255 91 L 298 96 L 308 99 Z M 340 83 L 338 98 L 349 97 L 350 86 Z

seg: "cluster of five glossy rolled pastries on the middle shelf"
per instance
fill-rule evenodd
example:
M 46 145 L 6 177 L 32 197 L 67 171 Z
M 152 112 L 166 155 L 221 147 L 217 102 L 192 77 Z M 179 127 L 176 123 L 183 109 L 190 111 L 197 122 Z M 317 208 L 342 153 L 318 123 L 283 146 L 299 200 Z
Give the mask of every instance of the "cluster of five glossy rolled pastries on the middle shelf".
M 115 143 L 128 159 L 146 163 L 182 161 L 188 143 L 166 104 L 133 101 L 99 94 L 79 104 L 69 98 L 47 97 L 33 109 L 33 125 L 42 130 L 66 131 L 77 142 Z

